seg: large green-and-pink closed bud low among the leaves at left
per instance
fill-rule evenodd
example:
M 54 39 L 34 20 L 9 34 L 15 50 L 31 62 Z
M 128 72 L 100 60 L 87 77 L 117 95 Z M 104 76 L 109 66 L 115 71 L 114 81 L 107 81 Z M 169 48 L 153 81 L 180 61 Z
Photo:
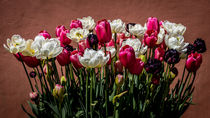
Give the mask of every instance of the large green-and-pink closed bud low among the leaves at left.
M 63 86 L 56 84 L 55 88 L 53 89 L 53 96 L 58 99 L 60 102 L 63 101 L 65 89 Z

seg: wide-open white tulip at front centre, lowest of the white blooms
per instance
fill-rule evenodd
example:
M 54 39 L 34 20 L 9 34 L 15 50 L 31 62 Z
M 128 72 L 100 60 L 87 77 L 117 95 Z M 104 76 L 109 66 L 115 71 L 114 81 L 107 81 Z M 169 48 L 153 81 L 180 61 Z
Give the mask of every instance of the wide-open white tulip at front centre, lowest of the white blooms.
M 79 56 L 80 63 L 86 68 L 104 66 L 109 61 L 109 55 L 105 56 L 102 50 L 85 49 L 83 56 Z

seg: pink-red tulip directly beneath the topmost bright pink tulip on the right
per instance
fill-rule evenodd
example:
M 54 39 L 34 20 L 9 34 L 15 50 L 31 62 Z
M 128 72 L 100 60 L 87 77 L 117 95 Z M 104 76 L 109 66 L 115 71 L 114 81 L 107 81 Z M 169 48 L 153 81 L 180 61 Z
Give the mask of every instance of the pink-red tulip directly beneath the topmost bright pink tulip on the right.
M 156 42 L 157 42 L 157 32 L 153 32 L 151 34 L 144 34 L 144 44 L 146 44 L 149 48 L 153 48 L 156 46 Z

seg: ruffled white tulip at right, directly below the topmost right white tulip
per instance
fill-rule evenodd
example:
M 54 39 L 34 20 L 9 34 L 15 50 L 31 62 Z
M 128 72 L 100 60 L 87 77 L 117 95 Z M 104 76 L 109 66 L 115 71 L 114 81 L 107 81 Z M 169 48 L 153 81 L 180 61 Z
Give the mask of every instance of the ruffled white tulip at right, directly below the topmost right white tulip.
M 169 49 L 175 49 L 180 53 L 185 53 L 187 51 L 187 46 L 189 43 L 184 42 L 184 37 L 182 35 L 166 36 L 170 38 L 165 39 L 165 44 Z

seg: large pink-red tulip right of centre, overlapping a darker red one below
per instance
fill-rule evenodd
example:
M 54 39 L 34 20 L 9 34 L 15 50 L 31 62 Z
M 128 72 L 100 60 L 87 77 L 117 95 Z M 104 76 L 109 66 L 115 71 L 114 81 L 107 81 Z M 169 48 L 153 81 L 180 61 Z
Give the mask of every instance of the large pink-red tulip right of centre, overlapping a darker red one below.
M 129 45 L 125 45 L 120 49 L 119 60 L 125 68 L 130 67 L 136 60 L 135 52 Z

